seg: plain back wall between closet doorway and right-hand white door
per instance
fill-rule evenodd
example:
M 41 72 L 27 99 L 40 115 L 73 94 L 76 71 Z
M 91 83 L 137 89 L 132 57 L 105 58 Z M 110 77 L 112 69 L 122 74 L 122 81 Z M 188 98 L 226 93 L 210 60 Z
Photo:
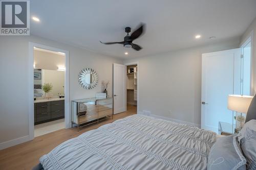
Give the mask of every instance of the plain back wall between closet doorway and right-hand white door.
M 139 61 L 139 111 L 201 124 L 202 53 L 237 48 L 239 38 L 175 52 L 126 60 Z

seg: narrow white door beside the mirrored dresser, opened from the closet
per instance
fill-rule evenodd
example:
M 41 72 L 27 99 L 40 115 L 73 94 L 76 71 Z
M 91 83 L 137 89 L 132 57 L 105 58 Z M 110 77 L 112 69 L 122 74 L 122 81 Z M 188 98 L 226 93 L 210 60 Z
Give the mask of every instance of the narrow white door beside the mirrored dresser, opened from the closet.
M 113 64 L 114 114 L 126 111 L 126 66 Z

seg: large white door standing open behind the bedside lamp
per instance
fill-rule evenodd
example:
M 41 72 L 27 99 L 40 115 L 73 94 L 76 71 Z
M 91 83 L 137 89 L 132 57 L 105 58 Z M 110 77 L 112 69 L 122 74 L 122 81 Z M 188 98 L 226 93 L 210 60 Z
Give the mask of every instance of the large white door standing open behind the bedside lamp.
M 240 94 L 241 49 L 202 54 L 201 128 L 218 133 L 219 122 L 232 124 L 228 94 Z

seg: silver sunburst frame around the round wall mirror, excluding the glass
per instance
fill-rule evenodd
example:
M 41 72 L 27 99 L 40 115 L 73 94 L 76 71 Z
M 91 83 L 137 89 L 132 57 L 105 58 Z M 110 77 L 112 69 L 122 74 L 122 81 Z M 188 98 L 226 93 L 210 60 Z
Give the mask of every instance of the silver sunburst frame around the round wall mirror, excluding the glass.
M 87 74 L 91 74 L 94 77 L 94 81 L 91 84 L 88 84 L 88 83 L 86 83 L 86 81 L 82 80 L 84 77 L 86 77 Z M 85 88 L 85 89 L 93 89 L 98 84 L 99 76 L 98 76 L 97 71 L 95 71 L 94 69 L 92 69 L 92 68 L 84 68 L 84 69 L 81 70 L 78 79 L 79 79 L 80 85 L 83 88 Z

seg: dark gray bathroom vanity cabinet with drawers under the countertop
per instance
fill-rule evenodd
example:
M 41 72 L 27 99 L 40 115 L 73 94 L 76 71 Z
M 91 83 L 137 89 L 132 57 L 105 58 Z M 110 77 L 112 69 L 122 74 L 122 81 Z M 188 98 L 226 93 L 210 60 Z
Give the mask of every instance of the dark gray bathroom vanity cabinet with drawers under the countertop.
M 35 125 L 64 118 L 64 100 L 34 104 Z

